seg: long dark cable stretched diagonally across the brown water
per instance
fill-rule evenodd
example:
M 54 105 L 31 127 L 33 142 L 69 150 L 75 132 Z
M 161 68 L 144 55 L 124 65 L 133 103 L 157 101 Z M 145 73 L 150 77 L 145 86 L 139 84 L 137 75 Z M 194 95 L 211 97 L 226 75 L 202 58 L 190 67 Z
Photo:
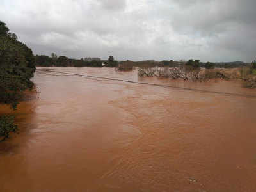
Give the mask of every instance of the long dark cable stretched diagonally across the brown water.
M 124 79 L 115 79 L 115 78 L 111 78 L 111 77 L 99 77 L 99 76 L 90 76 L 90 75 L 84 75 L 84 74 L 57 72 L 54 70 L 47 70 L 47 69 L 36 69 L 36 70 L 42 71 L 42 72 L 54 72 L 54 73 L 58 73 L 58 74 L 68 74 L 68 75 L 78 76 L 78 77 L 91 77 L 91 78 L 106 79 L 106 80 L 111 80 L 111 81 L 122 81 L 122 82 L 126 82 L 126 83 L 146 84 L 146 85 L 158 86 L 158 87 L 163 87 L 163 88 L 176 88 L 176 89 L 180 89 L 180 90 L 189 90 L 189 91 L 194 91 L 194 92 L 216 93 L 216 94 L 221 94 L 221 95 L 256 98 L 256 95 L 243 95 L 243 94 L 239 94 L 239 93 L 215 92 L 215 91 L 201 90 L 201 89 L 196 89 L 196 88 L 186 88 L 186 87 L 181 87 L 181 86 L 170 86 L 170 85 L 164 85 L 164 84 L 145 83 L 145 82 L 138 82 L 138 81 L 129 81 L 129 80 L 124 80 Z

